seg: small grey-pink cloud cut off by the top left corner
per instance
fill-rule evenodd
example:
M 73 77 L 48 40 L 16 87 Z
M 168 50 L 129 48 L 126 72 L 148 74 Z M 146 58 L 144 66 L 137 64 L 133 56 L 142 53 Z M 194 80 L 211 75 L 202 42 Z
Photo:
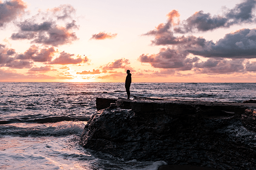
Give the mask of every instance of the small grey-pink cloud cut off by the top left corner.
M 26 7 L 22 0 L 0 1 L 0 27 L 23 14 Z

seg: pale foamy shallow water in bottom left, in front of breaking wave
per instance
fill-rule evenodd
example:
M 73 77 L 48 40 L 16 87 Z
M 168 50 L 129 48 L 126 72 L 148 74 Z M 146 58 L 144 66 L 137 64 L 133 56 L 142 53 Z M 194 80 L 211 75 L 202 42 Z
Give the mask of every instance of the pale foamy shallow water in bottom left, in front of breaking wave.
M 5 136 L 0 140 L 0 169 L 86 170 L 84 167 L 90 165 L 86 161 L 82 163 L 80 159 L 93 157 L 84 154 L 84 150 L 76 141 L 79 141 L 79 138 L 74 136 Z

